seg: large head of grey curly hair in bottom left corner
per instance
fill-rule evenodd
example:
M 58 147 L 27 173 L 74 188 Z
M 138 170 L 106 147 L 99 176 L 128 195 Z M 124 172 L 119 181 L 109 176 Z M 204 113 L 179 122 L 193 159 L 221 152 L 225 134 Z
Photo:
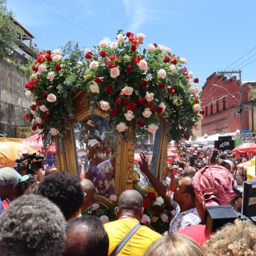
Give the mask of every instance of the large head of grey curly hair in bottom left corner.
M 58 256 L 64 249 L 65 219 L 47 198 L 23 195 L 0 215 L 1 256 Z

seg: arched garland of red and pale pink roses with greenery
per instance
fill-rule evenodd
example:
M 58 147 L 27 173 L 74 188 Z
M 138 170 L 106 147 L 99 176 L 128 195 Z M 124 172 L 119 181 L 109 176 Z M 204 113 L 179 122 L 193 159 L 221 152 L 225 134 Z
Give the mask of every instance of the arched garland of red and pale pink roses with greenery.
M 154 43 L 142 49 L 144 37 L 118 31 L 110 46 L 100 41 L 85 60 L 78 48 L 66 58 L 59 49 L 39 53 L 26 84 L 34 102 L 24 117 L 31 129 L 43 129 L 45 145 L 65 134 L 63 121 L 73 117 L 77 90 L 88 92 L 92 112 L 97 108 L 109 114 L 110 134 L 124 135 L 129 127 L 135 136 L 156 132 L 159 120 L 169 125 L 171 139 L 192 134 L 203 114 L 194 85 L 198 78 L 170 48 Z

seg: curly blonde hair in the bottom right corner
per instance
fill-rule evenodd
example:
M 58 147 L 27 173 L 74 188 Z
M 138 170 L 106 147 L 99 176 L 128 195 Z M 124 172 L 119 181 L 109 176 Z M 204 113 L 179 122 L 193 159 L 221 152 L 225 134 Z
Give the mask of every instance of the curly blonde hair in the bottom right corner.
M 250 220 L 235 220 L 211 235 L 203 245 L 206 255 L 256 255 L 256 228 Z

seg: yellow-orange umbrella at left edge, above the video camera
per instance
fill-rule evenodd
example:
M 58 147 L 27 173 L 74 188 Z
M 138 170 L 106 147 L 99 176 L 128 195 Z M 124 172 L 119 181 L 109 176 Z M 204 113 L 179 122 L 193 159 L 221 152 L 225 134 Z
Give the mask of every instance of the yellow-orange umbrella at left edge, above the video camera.
M 37 151 L 29 146 L 9 141 L 0 142 L 0 168 L 13 167 L 15 160 L 22 157 L 22 154 L 33 154 Z

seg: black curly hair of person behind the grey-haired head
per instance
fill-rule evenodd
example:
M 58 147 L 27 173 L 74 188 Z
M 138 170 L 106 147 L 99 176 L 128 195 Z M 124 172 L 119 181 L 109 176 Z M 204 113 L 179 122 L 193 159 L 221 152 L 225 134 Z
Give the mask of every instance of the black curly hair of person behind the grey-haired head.
M 82 206 L 83 191 L 80 178 L 75 174 L 54 173 L 39 184 L 38 194 L 48 198 L 69 220 Z

